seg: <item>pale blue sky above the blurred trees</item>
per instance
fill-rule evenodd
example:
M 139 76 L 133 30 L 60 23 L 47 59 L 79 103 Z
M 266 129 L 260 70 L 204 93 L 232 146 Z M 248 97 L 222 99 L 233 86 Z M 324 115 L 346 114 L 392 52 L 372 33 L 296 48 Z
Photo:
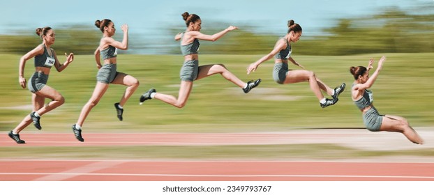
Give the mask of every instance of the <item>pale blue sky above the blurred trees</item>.
M 121 24 L 128 24 L 130 33 L 158 40 L 158 36 L 168 33 L 169 27 L 183 31 L 181 14 L 188 11 L 200 15 L 202 29 L 207 28 L 207 22 L 224 22 L 284 35 L 287 20 L 292 19 L 302 26 L 304 36 L 313 36 L 320 34 L 321 29 L 334 26 L 338 18 L 366 16 L 380 8 L 406 8 L 424 2 L 433 2 L 434 9 L 434 0 L 0 1 L 0 34 L 33 32 L 43 26 L 57 29 L 72 24 L 96 29 L 96 20 L 108 18 L 117 29 Z

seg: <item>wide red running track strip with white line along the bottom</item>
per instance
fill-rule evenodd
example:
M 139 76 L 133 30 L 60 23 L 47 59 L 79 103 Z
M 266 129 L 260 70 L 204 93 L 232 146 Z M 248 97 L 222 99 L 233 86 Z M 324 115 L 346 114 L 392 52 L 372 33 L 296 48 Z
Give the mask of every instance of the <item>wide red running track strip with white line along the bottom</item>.
M 433 163 L 0 160 L 1 181 L 433 181 Z

